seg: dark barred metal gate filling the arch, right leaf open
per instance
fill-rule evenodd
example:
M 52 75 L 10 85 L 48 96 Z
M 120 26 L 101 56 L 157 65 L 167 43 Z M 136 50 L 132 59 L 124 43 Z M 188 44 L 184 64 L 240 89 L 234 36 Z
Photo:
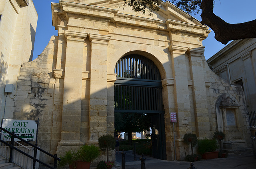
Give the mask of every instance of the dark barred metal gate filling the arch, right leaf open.
M 152 156 L 166 159 L 162 82 L 158 68 L 142 55 L 127 55 L 116 63 L 115 113 L 151 116 Z

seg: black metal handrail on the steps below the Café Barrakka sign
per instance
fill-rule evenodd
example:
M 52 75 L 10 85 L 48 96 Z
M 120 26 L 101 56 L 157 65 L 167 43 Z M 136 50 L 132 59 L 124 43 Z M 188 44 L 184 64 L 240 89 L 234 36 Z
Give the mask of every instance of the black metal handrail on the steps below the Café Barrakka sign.
M 42 165 L 44 165 L 44 166 L 46 166 L 46 167 L 48 167 L 48 168 L 50 168 L 50 169 L 57 169 L 57 161 L 60 161 L 61 159 L 58 158 L 56 154 L 55 154 L 55 155 L 52 155 L 52 154 L 48 153 L 47 151 L 44 151 L 43 149 L 37 147 L 37 145 L 34 145 L 34 144 L 32 144 L 32 143 L 30 143 L 30 142 L 28 142 L 28 141 L 26 141 L 26 140 L 24 140 L 24 139 L 22 139 L 22 138 L 16 136 L 16 135 L 14 134 L 14 132 L 11 133 L 11 132 L 9 132 L 8 130 L 6 130 L 6 129 L 0 127 L 0 132 L 2 132 L 2 130 L 3 130 L 4 132 L 8 133 L 9 135 L 11 135 L 11 143 L 10 143 L 10 144 L 7 143 L 6 141 L 0 139 L 0 142 L 4 143 L 5 145 L 7 145 L 7 146 L 10 147 L 9 163 L 12 162 L 12 150 L 14 149 L 14 150 L 16 150 L 16 151 L 22 153 L 23 155 L 26 155 L 26 156 L 29 157 L 30 159 L 33 159 L 33 161 L 34 161 L 33 169 L 35 168 L 35 162 L 41 163 Z M 24 143 L 27 143 L 28 145 L 34 147 L 34 157 L 32 157 L 31 155 L 25 153 L 24 151 L 22 151 L 22 150 L 16 148 L 16 147 L 14 146 L 14 138 L 17 138 L 18 140 L 23 141 Z M 48 165 L 48 164 L 46 164 L 46 163 L 44 163 L 44 162 L 42 162 L 42 161 L 36 159 L 36 151 L 37 151 L 37 150 L 39 150 L 39 151 L 41 151 L 42 153 L 45 153 L 46 155 L 48 155 L 48 156 L 54 158 L 54 167 L 52 167 L 52 166 L 50 166 L 50 165 Z

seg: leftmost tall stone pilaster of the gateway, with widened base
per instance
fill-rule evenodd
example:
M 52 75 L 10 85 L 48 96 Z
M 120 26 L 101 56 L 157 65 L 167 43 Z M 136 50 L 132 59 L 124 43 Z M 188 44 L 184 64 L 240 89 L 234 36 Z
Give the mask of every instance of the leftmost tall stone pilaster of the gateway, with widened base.
M 59 145 L 82 145 L 80 141 L 83 46 L 87 33 L 64 31 L 66 63 Z

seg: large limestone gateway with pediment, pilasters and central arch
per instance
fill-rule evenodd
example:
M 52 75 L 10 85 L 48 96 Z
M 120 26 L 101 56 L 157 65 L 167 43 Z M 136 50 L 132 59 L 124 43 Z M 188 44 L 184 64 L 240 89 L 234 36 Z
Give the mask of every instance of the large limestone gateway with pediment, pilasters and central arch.
M 58 36 L 37 59 L 22 64 L 8 117 L 39 118 L 38 145 L 58 155 L 114 134 L 114 112 L 146 112 L 157 119 L 153 149 L 160 159 L 190 154 L 186 133 L 212 138 L 223 131 L 226 151 L 250 147 L 242 88 L 218 77 L 205 61 L 208 27 L 170 2 L 152 16 L 123 4 L 52 3 Z M 176 112 L 174 125 L 170 112 Z

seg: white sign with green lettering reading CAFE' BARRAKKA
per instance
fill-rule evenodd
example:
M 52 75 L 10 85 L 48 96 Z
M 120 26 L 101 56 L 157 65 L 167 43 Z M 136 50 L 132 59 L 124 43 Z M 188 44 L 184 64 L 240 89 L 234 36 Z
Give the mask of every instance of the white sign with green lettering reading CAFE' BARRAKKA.
M 36 141 L 36 121 L 3 119 L 3 128 L 26 141 Z M 9 136 L 11 137 L 11 136 Z M 19 141 L 17 138 L 15 141 Z

